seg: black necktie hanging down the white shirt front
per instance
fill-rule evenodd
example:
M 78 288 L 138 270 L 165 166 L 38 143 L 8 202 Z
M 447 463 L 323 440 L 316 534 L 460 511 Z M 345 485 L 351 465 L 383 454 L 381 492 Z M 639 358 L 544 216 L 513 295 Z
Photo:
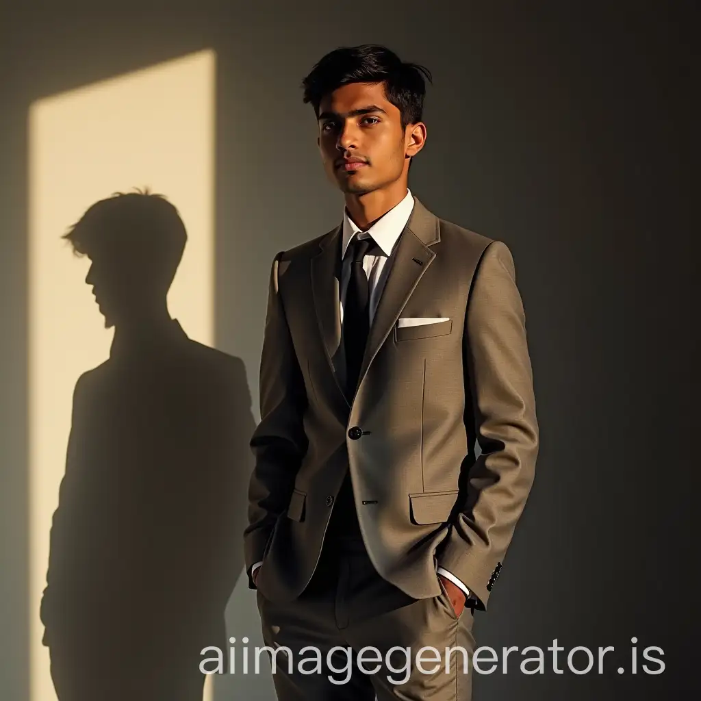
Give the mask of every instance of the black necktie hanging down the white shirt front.
M 368 254 L 381 255 L 382 250 L 372 238 L 355 238 L 349 249 L 351 277 L 343 305 L 343 348 L 346 352 L 346 393 L 353 397 L 370 329 L 370 285 L 362 261 Z

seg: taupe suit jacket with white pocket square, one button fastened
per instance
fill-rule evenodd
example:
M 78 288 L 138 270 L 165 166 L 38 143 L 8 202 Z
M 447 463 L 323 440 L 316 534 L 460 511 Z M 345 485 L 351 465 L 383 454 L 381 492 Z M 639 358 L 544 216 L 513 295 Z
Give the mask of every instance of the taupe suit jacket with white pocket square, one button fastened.
M 372 563 L 416 598 L 440 594 L 437 562 L 485 608 L 526 503 L 538 423 L 512 256 L 414 200 L 352 401 L 331 360 L 342 226 L 273 261 L 244 531 L 268 599 L 304 590 L 347 469 Z

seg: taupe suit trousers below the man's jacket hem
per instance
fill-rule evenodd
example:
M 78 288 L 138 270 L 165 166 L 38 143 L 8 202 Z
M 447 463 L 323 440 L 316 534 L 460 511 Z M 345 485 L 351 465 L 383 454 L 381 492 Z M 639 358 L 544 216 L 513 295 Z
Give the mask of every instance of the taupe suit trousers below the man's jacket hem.
M 279 701 L 471 701 L 472 608 L 405 594 L 358 536 L 325 540 L 297 599 L 257 604 Z

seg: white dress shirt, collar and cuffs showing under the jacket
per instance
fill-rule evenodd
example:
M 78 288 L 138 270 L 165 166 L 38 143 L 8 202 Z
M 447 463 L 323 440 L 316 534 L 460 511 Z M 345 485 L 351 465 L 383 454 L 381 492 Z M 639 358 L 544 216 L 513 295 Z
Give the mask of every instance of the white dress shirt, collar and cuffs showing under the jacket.
M 397 240 L 399 240 L 402 231 L 404 231 L 404 226 L 407 225 L 409 217 L 411 216 L 411 210 L 413 209 L 414 196 L 411 195 L 411 190 L 407 189 L 407 195 L 400 203 L 386 212 L 386 214 L 378 219 L 367 231 L 361 231 L 358 226 L 356 226 L 355 222 L 353 222 L 353 219 L 348 216 L 348 210 L 346 207 L 343 207 L 343 240 L 341 242 L 341 261 L 343 262 L 341 267 L 340 284 L 341 299 L 339 300 L 341 312 L 341 334 L 343 334 L 343 301 L 346 299 L 348 281 L 351 279 L 351 258 L 346 257 L 346 251 L 348 250 L 348 245 L 351 243 L 351 239 L 356 234 L 358 234 L 358 238 L 372 237 L 374 242 L 379 245 L 384 254 L 368 254 L 365 256 L 365 259 L 363 259 L 362 264 L 369 283 L 369 315 L 370 324 L 372 325 L 372 320 L 375 312 L 377 311 L 377 304 L 387 279 L 388 268 L 386 268 L 385 264 L 388 257 L 392 254 L 395 244 L 397 243 Z M 333 362 L 334 369 L 339 374 L 341 386 L 343 386 L 343 384 L 345 384 L 346 360 L 343 354 L 342 341 L 339 346 L 339 351 L 334 355 Z M 251 568 L 251 574 L 254 573 L 254 571 L 261 566 L 261 564 L 263 564 L 262 561 L 255 563 Z M 470 597 L 470 590 L 468 587 L 466 587 L 454 574 L 443 569 L 442 567 L 437 567 L 436 573 L 451 580 L 451 582 L 458 585 L 458 587 L 465 592 L 465 597 Z

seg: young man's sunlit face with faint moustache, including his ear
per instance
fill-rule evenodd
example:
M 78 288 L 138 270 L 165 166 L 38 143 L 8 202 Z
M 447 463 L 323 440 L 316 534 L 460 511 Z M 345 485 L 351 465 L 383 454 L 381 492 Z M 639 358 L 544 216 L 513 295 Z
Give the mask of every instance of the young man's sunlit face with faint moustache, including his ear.
M 327 176 L 355 194 L 396 182 L 409 168 L 406 156 L 421 149 L 411 130 L 402 129 L 400 110 L 387 100 L 383 83 L 341 86 L 319 105 L 318 144 Z

